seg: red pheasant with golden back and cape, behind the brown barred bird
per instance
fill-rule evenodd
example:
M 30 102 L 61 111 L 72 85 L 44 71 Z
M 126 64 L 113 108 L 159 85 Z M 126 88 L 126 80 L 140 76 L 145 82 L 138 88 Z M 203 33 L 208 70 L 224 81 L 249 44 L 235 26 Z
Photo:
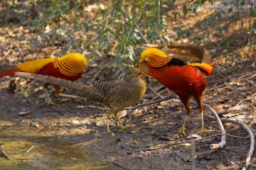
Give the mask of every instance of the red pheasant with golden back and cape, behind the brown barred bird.
M 33 60 L 29 62 L 23 62 L 18 64 L 15 68 L 13 65 L 3 65 L 0 66 L 0 77 L 14 74 L 15 72 L 28 72 L 35 74 L 43 74 L 52 77 L 59 77 L 61 79 L 67 79 L 70 81 L 75 81 L 82 77 L 82 72 L 85 69 L 87 60 L 83 55 L 79 53 L 69 53 L 60 58 L 44 58 L 41 60 Z M 46 95 L 48 98 L 48 103 L 52 103 L 48 96 L 48 83 L 44 84 L 46 89 Z M 59 96 L 70 97 L 70 98 L 80 98 L 79 96 L 73 96 L 68 94 L 60 93 L 60 86 L 53 85 L 56 94 Z

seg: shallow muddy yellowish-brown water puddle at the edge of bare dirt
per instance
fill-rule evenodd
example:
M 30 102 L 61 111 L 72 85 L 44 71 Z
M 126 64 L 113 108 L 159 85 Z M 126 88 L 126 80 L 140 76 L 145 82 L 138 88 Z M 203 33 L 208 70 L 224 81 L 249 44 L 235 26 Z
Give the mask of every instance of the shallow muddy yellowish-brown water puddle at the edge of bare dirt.
M 0 157 L 0 169 L 110 168 L 110 163 L 97 157 L 92 147 L 80 146 L 81 141 L 79 135 L 51 135 L 29 125 L 0 121 L 0 143 L 4 143 L 4 152 L 11 158 Z

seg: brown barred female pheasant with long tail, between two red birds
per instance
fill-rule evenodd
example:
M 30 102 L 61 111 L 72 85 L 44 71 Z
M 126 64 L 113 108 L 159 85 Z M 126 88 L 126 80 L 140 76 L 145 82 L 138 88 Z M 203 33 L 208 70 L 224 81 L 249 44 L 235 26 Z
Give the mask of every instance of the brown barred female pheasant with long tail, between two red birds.
M 57 84 L 68 89 L 80 91 L 88 98 L 100 102 L 103 106 L 110 108 L 107 112 L 107 132 L 110 132 L 109 118 L 111 114 L 117 118 L 119 128 L 124 130 L 124 126 L 119 120 L 117 113 L 122 109 L 132 106 L 137 103 L 146 91 L 145 81 L 142 79 L 142 74 L 139 69 L 131 69 L 122 80 L 106 81 L 102 83 L 92 84 L 87 86 L 77 84 L 72 81 L 58 79 L 55 77 L 47 77 L 39 74 L 16 73 L 19 76 L 38 79 L 50 84 Z

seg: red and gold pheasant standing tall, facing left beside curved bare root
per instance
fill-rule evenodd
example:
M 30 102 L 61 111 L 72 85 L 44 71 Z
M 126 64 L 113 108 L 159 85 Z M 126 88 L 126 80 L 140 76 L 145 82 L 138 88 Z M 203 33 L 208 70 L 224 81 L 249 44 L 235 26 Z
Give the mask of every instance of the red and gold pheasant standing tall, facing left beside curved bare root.
M 181 130 L 176 135 L 183 133 L 186 135 L 186 123 L 190 114 L 189 100 L 191 96 L 198 103 L 201 112 L 202 127 L 199 132 L 208 132 L 203 123 L 203 106 L 201 103 L 203 91 L 206 89 L 209 74 L 213 74 L 213 67 L 205 62 L 186 64 L 182 60 L 174 57 L 183 57 L 192 60 L 206 60 L 210 62 L 209 53 L 204 52 L 202 47 L 196 45 L 170 45 L 167 52 L 156 48 L 148 48 L 142 52 L 139 57 L 139 69 L 147 77 L 154 77 L 166 86 L 181 99 L 186 108 L 186 118 Z M 174 50 L 174 51 L 170 51 Z M 175 50 L 188 50 L 187 53 L 177 52 Z

